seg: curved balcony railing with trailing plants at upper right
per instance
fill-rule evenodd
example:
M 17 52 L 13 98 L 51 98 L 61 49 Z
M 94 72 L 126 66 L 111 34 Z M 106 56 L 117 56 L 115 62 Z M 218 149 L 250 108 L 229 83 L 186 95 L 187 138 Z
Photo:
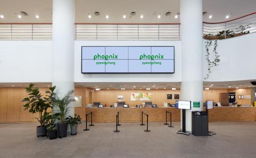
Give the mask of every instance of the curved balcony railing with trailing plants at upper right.
M 256 12 L 223 22 L 203 22 L 203 38 L 218 40 L 256 32 Z

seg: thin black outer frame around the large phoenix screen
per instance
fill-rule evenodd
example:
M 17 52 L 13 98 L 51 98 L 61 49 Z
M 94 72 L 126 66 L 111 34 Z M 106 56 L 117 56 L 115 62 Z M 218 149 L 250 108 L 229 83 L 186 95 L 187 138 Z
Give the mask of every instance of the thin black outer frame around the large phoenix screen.
M 82 72 L 82 47 L 174 47 L 174 72 Z M 175 73 L 175 46 L 81 46 L 82 74 L 173 74 Z

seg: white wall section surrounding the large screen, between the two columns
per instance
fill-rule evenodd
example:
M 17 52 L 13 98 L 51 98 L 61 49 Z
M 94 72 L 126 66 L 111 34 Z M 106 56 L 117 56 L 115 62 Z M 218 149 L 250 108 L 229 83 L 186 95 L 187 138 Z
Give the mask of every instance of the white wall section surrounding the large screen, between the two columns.
M 75 41 L 75 82 L 180 82 L 180 41 Z M 175 46 L 174 74 L 82 74 L 81 46 Z

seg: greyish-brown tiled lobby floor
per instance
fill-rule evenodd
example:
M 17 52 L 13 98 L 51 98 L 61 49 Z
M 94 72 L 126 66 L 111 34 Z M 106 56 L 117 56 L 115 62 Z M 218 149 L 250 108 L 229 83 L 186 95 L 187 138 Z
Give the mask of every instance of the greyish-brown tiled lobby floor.
M 256 157 L 256 122 L 213 122 L 211 137 L 176 134 L 163 123 L 151 123 L 150 133 L 139 123 L 79 125 L 76 136 L 37 138 L 37 123 L 0 124 L 0 157 Z

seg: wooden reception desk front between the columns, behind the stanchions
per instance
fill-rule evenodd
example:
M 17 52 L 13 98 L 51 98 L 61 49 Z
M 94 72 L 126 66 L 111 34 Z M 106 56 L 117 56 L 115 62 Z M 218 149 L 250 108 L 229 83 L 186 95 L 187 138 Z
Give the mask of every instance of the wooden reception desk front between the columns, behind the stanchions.
M 180 110 L 176 108 L 86 108 L 87 114 L 93 112 L 94 122 L 115 122 L 117 112 L 120 122 L 140 122 L 141 112 L 148 114 L 150 122 L 164 122 L 165 111 L 172 112 L 172 121 L 180 121 Z M 146 120 L 145 116 L 144 118 Z

